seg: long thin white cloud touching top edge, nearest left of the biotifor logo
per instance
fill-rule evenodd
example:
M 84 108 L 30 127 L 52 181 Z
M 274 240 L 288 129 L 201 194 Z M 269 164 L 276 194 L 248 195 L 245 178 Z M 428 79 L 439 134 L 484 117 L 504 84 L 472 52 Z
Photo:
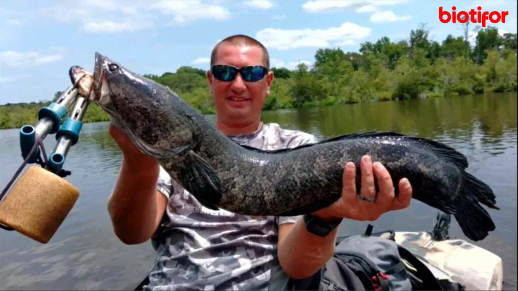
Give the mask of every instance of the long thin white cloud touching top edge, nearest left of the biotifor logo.
M 302 8 L 307 12 L 329 12 L 343 9 L 361 9 L 365 6 L 393 6 L 400 3 L 408 2 L 409 0 L 314 0 L 308 1 L 302 5 Z M 371 8 L 364 8 L 371 9 Z

